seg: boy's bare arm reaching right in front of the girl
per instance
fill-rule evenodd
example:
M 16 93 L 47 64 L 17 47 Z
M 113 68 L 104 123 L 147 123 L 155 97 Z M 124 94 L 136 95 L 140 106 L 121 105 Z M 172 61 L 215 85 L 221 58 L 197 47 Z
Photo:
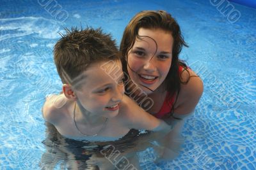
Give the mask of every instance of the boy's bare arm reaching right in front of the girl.
M 128 96 L 124 96 L 120 111 L 125 116 L 125 124 L 127 124 L 130 129 L 144 129 L 167 133 L 173 128 L 172 125 L 168 125 L 163 120 L 144 111 Z

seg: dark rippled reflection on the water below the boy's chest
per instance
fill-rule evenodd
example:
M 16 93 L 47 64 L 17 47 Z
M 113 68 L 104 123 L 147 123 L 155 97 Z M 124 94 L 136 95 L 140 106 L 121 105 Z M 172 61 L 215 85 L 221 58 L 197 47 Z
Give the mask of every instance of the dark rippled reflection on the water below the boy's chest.
M 129 166 L 138 168 L 139 136 L 148 136 L 147 133 L 132 129 L 123 138 L 117 141 L 89 142 L 68 139 L 56 130 L 56 128 L 45 123 L 46 139 L 45 153 L 42 155 L 41 169 L 114 169 L 116 167 Z M 142 140 L 140 140 L 141 142 Z M 150 143 L 148 143 L 148 146 Z M 147 147 L 145 143 L 143 146 Z M 144 147 L 144 148 L 145 148 Z M 143 147 L 139 147 L 143 150 Z M 101 169 L 101 168 L 100 168 Z

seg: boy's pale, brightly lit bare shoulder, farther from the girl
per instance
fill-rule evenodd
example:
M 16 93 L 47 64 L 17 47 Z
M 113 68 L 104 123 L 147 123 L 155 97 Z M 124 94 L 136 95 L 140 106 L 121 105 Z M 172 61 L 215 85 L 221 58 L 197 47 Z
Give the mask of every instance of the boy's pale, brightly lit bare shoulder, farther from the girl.
M 68 99 L 64 94 L 46 97 L 42 108 L 43 117 L 51 124 L 58 124 L 68 108 Z

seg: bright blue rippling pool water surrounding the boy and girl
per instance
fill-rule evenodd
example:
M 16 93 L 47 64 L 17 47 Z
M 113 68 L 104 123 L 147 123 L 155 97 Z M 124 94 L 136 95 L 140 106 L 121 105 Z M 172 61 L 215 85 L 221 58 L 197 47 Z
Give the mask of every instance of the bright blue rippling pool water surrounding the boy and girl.
M 172 13 L 189 44 L 180 58 L 204 81 L 204 94 L 182 131 L 180 156 L 156 165 L 146 150 L 140 154 L 143 169 L 256 169 L 255 9 L 232 3 L 241 14 L 232 23 L 207 0 L 52 2 L 60 8 L 0 2 L 0 169 L 40 169 L 42 104 L 47 94 L 61 91 L 52 60 L 58 32 L 102 27 L 119 44 L 125 25 L 141 10 Z

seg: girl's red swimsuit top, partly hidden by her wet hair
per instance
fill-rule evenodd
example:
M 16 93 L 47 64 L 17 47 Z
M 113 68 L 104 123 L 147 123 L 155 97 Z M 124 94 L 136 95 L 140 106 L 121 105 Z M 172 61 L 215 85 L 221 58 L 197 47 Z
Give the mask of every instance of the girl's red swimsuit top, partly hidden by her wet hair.
M 181 74 L 182 68 L 183 68 L 182 66 L 179 66 L 179 74 Z M 158 111 L 158 113 L 154 114 L 154 117 L 162 118 L 162 117 L 164 117 L 164 115 L 167 115 L 168 113 L 170 113 L 170 111 L 172 110 L 174 100 L 175 100 L 175 95 L 173 95 L 170 98 L 169 97 L 169 92 L 167 92 L 160 111 Z

